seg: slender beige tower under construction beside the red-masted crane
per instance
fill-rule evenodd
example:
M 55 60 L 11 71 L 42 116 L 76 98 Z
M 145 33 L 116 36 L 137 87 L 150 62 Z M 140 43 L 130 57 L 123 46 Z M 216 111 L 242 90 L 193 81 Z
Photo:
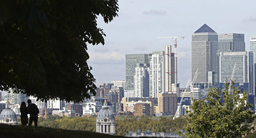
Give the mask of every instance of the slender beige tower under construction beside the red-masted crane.
M 175 60 L 177 61 L 177 58 L 175 58 L 174 53 L 172 53 L 171 45 L 165 45 L 165 92 L 176 91 L 172 88 L 175 77 L 177 78 L 177 72 L 175 73 Z

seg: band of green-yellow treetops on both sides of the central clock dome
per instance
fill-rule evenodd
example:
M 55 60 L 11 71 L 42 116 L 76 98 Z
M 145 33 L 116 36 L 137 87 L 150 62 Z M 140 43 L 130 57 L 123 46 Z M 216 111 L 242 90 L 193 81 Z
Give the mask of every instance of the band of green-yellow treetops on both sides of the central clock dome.
M 176 132 L 180 128 L 186 128 L 185 117 L 172 119 L 173 116 L 155 117 L 155 116 L 116 116 L 116 134 L 126 135 L 129 130 L 137 131 L 141 129 L 146 131 L 150 129 L 154 132 Z M 124 119 L 123 119 L 124 118 Z M 84 117 L 60 117 L 49 115 L 46 119 L 38 118 L 38 126 L 65 129 L 65 130 L 84 130 L 96 132 L 96 116 Z

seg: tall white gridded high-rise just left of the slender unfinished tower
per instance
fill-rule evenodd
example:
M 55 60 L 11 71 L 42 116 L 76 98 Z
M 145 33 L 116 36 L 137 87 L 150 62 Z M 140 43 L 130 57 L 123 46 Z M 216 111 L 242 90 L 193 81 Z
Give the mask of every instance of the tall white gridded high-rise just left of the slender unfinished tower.
M 157 98 L 158 93 L 165 92 L 165 52 L 155 51 L 150 60 L 149 97 Z

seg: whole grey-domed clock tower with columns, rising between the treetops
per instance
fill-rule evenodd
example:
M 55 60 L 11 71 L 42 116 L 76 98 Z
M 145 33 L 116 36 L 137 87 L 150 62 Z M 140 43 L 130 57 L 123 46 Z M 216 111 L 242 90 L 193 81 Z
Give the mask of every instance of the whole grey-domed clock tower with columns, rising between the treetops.
M 96 118 L 96 132 L 109 135 L 116 134 L 116 120 L 111 109 L 107 107 L 106 99 Z

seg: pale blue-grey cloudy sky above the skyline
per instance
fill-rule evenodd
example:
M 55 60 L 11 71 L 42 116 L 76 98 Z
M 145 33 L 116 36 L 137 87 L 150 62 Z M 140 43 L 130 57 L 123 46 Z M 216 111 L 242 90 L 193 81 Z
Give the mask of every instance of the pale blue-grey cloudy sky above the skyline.
M 98 83 L 125 80 L 125 55 L 163 51 L 177 38 L 177 82 L 184 88 L 191 79 L 191 36 L 207 24 L 216 33 L 245 34 L 245 50 L 250 36 L 256 36 L 255 0 L 119 0 L 118 17 L 108 24 L 101 16 L 98 27 L 106 34 L 104 45 L 88 44 L 88 65 Z

